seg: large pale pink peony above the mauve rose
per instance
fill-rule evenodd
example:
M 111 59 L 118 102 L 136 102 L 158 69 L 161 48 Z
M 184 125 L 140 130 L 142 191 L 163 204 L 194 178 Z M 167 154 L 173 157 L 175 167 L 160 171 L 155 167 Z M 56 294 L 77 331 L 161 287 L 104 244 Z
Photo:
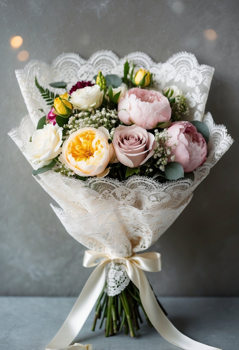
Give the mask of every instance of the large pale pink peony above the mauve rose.
M 171 107 L 162 93 L 134 87 L 120 98 L 118 117 L 124 124 L 137 124 L 149 130 L 170 120 Z

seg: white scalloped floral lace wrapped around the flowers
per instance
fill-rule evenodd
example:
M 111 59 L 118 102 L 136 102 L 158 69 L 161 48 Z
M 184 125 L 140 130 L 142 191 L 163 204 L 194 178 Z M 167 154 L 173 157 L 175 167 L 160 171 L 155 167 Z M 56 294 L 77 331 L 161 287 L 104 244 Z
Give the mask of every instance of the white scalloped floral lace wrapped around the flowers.
M 193 182 L 181 179 L 159 183 L 143 176 L 131 176 L 124 182 L 107 177 L 81 181 L 54 171 L 35 177 L 60 205 L 61 208 L 53 205 L 52 208 L 71 236 L 89 249 L 108 251 L 119 257 L 129 257 L 155 243 L 190 202 L 194 188 L 231 146 L 233 140 L 225 126 L 215 125 L 210 113 L 204 115 L 214 69 L 199 65 L 194 55 L 186 52 L 173 55 L 163 64 L 156 64 L 141 52 L 118 58 L 111 51 L 96 52 L 88 61 L 76 54 L 62 54 L 51 66 L 33 61 L 24 70 L 16 71 L 29 115 L 22 119 L 19 128 L 9 133 L 26 156 L 29 139 L 42 117 L 38 109 L 49 109 L 34 85 L 36 75 L 45 87 L 64 80 L 70 89 L 78 80 L 91 80 L 99 69 L 103 74 L 123 76 L 126 58 L 155 74 L 154 87 L 163 90 L 165 86 L 177 85 L 187 97 L 189 120 L 204 121 L 210 130 L 210 140 L 207 160 L 194 171 Z M 108 294 L 119 294 L 128 283 L 124 265 L 109 264 Z

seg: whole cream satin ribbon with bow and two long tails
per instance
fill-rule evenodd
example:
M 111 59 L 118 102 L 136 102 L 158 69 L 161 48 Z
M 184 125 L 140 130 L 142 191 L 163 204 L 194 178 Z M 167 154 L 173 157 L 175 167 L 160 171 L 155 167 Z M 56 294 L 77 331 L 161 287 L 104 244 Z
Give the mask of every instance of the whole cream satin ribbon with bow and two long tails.
M 101 260 L 97 261 L 99 259 Z M 213 346 L 196 342 L 183 335 L 174 327 L 159 307 L 143 270 L 149 272 L 161 271 L 161 254 L 148 252 L 135 254 L 129 258 L 122 258 L 106 253 L 99 253 L 93 250 L 85 251 L 83 265 L 85 267 L 97 267 L 91 273 L 65 322 L 47 346 L 46 350 L 92 349 L 90 344 L 83 345 L 75 343 L 70 346 L 69 344 L 75 339 L 78 332 L 81 330 L 104 287 L 106 278 L 105 267 L 110 261 L 114 261 L 118 264 L 125 264 L 129 278 L 139 289 L 144 310 L 146 311 L 153 327 L 155 327 L 158 333 L 168 342 L 185 350 L 221 350 L 214 348 Z

